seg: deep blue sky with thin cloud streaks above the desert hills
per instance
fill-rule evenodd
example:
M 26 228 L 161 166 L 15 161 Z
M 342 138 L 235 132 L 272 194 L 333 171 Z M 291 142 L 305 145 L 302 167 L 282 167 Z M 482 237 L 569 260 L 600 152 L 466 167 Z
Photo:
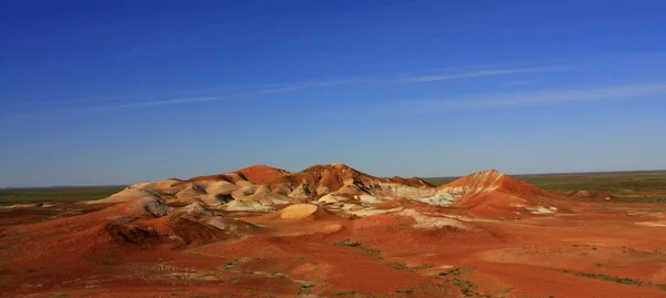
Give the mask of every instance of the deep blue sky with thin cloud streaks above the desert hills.
M 0 186 L 666 168 L 664 1 L 2 1 Z

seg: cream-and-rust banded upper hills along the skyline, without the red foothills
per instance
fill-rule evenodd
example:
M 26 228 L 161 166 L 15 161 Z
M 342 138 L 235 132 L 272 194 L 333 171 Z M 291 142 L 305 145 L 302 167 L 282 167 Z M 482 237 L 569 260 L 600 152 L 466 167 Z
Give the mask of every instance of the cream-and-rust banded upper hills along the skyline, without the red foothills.
M 182 207 L 193 203 L 226 212 L 273 212 L 289 204 L 314 204 L 347 214 L 375 214 L 395 199 L 451 206 L 472 214 L 554 213 L 558 195 L 495 169 L 482 171 L 435 187 L 418 178 L 376 177 L 344 164 L 314 165 L 291 173 L 268 165 L 234 172 L 170 178 L 131 185 L 90 204 L 158 199 Z M 548 201 L 549 199 L 549 201 Z

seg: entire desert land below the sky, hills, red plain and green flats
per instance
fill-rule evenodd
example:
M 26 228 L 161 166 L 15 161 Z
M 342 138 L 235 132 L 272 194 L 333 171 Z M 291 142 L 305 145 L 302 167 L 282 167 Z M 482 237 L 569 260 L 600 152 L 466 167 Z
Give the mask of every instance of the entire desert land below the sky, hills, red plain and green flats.
M 664 172 L 255 165 L 0 199 L 3 297 L 666 297 Z

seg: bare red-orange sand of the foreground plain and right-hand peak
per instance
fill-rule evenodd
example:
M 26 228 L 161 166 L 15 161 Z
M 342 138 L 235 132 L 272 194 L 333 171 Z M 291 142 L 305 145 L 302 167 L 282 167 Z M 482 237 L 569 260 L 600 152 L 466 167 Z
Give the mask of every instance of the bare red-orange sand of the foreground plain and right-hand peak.
M 367 177 L 320 169 L 301 175 L 317 182 L 327 175 L 327 185 L 345 175 Z M 243 175 L 261 181 L 275 174 L 262 171 Z M 226 213 L 224 224 L 233 228 L 222 232 L 174 216 L 141 215 L 128 208 L 130 203 L 40 223 L 36 222 L 44 208 L 0 209 L 0 292 L 3 297 L 666 297 L 666 227 L 657 225 L 666 219 L 655 212 L 663 205 L 564 201 L 493 175 L 448 185 L 493 188 L 466 194 L 477 203 L 471 209 L 402 199 L 384 204 L 463 216 L 466 228 L 423 229 L 414 218 L 397 214 L 357 218 L 317 209 L 291 219 L 280 217 L 280 212 Z M 546 197 L 569 212 L 508 216 L 512 209 L 502 208 L 513 197 Z M 91 208 L 62 204 L 60 210 Z M 507 216 L 498 217 L 502 210 Z M 485 213 L 488 216 L 482 216 Z M 123 216 L 138 219 L 125 222 Z M 340 228 L 327 228 L 333 225 Z

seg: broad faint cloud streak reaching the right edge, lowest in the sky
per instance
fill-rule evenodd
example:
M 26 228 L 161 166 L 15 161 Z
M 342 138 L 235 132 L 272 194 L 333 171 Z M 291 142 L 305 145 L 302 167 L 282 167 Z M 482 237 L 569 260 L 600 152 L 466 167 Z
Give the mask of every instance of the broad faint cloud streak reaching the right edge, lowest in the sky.
M 460 110 L 516 107 L 566 102 L 637 99 L 662 94 L 666 94 L 666 82 L 624 84 L 577 90 L 505 93 L 470 96 L 464 99 L 442 97 L 436 100 L 402 102 L 396 104 L 394 107 L 396 113 L 421 114 Z

